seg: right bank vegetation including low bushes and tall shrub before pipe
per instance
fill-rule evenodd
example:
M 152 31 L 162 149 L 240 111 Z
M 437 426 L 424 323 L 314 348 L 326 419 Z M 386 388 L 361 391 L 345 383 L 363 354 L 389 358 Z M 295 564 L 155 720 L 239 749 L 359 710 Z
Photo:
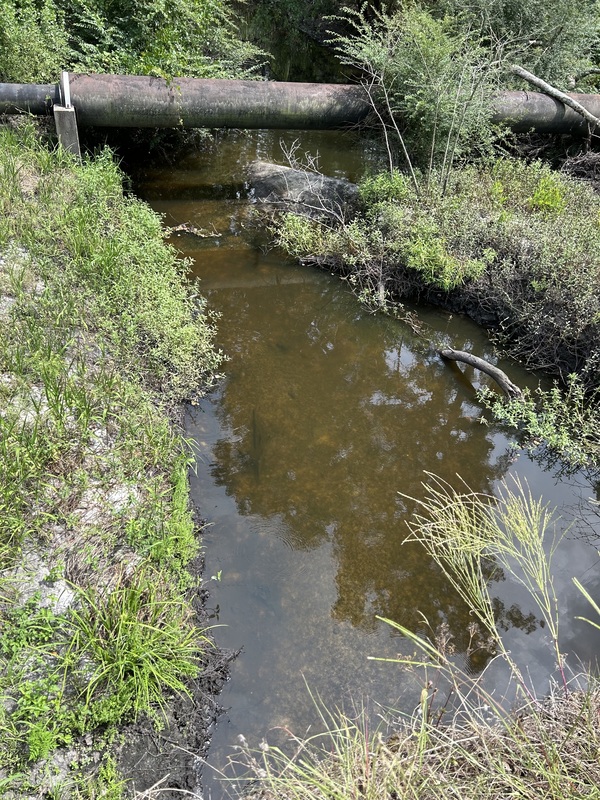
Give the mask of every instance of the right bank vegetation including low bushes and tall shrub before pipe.
M 510 14 L 477 2 L 461 13 L 391 5 L 346 7 L 350 32 L 332 34 L 364 76 L 388 169 L 365 177 L 355 208 L 282 215 L 276 242 L 344 275 L 374 310 L 419 300 L 491 329 L 501 350 L 557 382 L 510 403 L 487 395 L 496 418 L 568 469 L 597 470 L 600 202 L 566 170 L 516 157 L 491 102 L 519 86 L 517 58 L 568 90 L 593 77 L 596 5 L 550 4 L 560 28 L 538 4 Z

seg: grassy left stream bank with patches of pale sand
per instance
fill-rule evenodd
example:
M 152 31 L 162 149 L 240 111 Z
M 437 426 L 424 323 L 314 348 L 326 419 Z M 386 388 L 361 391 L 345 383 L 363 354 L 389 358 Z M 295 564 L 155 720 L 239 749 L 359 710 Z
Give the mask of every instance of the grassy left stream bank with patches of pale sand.
M 117 800 L 124 726 L 169 729 L 212 649 L 177 408 L 221 357 L 110 152 L 13 120 L 0 176 L 0 793 Z

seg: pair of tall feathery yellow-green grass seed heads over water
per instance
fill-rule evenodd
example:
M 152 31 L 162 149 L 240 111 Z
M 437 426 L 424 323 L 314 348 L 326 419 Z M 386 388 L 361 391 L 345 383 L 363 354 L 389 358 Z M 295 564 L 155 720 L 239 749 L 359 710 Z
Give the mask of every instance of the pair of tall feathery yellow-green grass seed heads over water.
M 510 665 L 520 690 L 531 697 L 526 677 L 504 647 L 489 594 L 490 576 L 498 571 L 520 583 L 544 620 L 561 685 L 567 690 L 552 578 L 552 557 L 559 543 L 552 512 L 518 479 L 514 488 L 504 482 L 497 499 L 468 489 L 454 491 L 431 475 L 424 489 L 407 541 L 421 544 L 438 564 Z

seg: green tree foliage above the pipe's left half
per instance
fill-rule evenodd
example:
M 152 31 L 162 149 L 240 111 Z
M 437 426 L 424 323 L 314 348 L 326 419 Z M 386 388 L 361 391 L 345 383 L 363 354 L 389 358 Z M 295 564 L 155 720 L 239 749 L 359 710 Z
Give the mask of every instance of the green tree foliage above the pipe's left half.
M 54 81 L 61 69 L 250 76 L 260 51 L 241 41 L 227 0 L 5 0 L 0 79 Z

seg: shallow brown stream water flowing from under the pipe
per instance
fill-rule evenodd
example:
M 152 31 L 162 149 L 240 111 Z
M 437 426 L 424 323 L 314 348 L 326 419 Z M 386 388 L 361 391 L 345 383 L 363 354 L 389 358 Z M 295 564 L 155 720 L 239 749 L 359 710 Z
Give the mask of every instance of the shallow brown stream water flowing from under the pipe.
M 329 175 L 356 179 L 377 157 L 339 133 L 286 134 L 295 136 L 318 150 Z M 229 358 L 219 390 L 186 420 L 198 447 L 192 490 L 210 523 L 206 579 L 214 576 L 214 621 L 224 626 L 215 636 L 243 648 L 205 770 L 213 797 L 224 791 L 213 776 L 239 734 L 256 746 L 275 728 L 302 734 L 318 724 L 311 693 L 347 709 L 366 697 L 403 710 L 417 704 L 405 673 L 368 660 L 407 648 L 378 616 L 418 630 L 423 615 L 434 626 L 447 622 L 461 660 L 468 609 L 423 551 L 403 542 L 414 509 L 403 495 L 423 496 L 425 472 L 454 485 L 459 475 L 482 492 L 519 476 L 558 507 L 559 529 L 574 523 L 555 560 L 562 647 L 573 663 L 600 653 L 598 633 L 574 620 L 589 609 L 571 584 L 577 575 L 600 597 L 592 488 L 581 476 L 559 481 L 511 449 L 506 432 L 482 424 L 475 389 L 483 379 L 474 371 L 448 367 L 403 323 L 366 313 L 338 278 L 252 246 L 243 170 L 257 157 L 284 162 L 279 138 L 224 136 L 139 187 L 168 225 L 213 232 L 173 241 L 222 315 L 218 343 Z M 419 315 L 432 338 L 494 359 L 467 320 Z M 517 365 L 501 366 L 516 383 L 535 382 Z M 532 601 L 510 576 L 494 594 L 510 647 L 545 691 L 553 658 Z M 462 663 L 476 672 L 486 656 Z

